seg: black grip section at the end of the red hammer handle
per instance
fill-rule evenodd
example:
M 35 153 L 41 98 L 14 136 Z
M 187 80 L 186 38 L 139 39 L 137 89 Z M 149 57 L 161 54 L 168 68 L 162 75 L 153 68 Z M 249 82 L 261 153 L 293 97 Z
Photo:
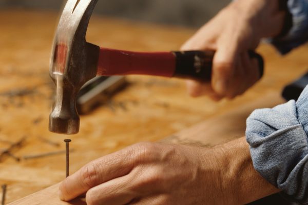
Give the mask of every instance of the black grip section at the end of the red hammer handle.
M 176 70 L 174 77 L 210 81 L 215 51 L 174 51 Z M 256 58 L 260 78 L 263 76 L 264 61 L 261 55 L 248 51 L 249 57 Z

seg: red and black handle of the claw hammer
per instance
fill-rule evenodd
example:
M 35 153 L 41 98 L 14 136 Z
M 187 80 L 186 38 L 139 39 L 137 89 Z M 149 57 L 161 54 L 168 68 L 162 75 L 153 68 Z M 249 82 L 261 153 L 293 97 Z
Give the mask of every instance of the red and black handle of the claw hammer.
M 210 81 L 215 51 L 132 52 L 100 49 L 98 75 L 145 74 Z M 263 75 L 263 58 L 248 51 L 259 63 Z

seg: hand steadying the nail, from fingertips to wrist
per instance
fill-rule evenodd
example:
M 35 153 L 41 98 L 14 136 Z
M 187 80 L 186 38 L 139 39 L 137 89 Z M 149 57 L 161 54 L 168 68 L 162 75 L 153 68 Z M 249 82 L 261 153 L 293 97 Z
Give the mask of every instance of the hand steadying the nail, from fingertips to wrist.
M 89 205 L 233 204 L 221 157 L 208 148 L 143 142 L 94 160 L 66 178 L 60 198 Z M 222 193 L 223 192 L 223 193 Z

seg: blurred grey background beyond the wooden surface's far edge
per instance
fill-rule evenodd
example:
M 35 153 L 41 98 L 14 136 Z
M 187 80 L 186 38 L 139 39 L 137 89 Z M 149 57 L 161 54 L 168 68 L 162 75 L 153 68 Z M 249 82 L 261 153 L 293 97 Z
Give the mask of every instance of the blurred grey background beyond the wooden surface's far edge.
M 95 12 L 159 24 L 202 26 L 230 0 L 99 0 Z M 59 10 L 63 0 L 0 0 L 0 8 Z

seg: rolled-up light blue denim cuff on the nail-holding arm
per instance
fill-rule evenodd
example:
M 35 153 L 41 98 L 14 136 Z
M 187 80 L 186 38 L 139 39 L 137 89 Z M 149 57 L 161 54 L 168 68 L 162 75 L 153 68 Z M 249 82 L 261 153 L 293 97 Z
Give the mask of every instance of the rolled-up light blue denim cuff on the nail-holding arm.
M 308 203 L 308 87 L 295 102 L 259 109 L 247 119 L 255 169 L 293 199 Z

